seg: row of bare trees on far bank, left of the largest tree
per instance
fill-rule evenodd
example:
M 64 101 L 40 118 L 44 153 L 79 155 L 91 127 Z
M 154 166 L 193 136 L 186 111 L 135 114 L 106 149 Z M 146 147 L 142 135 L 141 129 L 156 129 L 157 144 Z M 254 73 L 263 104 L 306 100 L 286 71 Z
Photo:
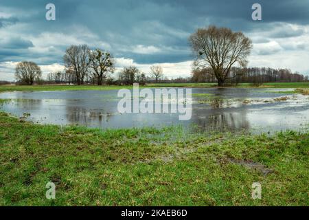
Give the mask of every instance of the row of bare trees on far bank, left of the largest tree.
M 115 59 L 109 52 L 90 50 L 87 45 L 71 45 L 63 56 L 65 70 L 47 74 L 47 83 L 66 83 L 83 85 L 91 83 L 102 85 L 114 82 Z M 19 83 L 32 85 L 41 81 L 40 67 L 33 62 L 23 61 L 16 66 L 15 77 Z M 163 69 L 159 65 L 150 67 L 150 76 L 158 83 L 163 78 Z M 137 67 L 124 67 L 119 73 L 117 83 L 130 85 L 135 82 L 145 84 L 146 74 Z

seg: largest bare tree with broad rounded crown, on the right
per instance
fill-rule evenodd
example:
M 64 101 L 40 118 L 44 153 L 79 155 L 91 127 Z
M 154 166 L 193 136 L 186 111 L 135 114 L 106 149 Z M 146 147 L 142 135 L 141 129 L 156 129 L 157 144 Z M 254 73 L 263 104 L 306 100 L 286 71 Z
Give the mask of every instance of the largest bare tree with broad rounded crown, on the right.
M 190 36 L 189 41 L 196 56 L 194 66 L 199 69 L 211 67 L 218 86 L 237 76 L 231 76 L 233 65 L 247 66 L 247 56 L 252 48 L 251 40 L 242 32 L 232 32 L 229 28 L 216 26 L 199 28 Z

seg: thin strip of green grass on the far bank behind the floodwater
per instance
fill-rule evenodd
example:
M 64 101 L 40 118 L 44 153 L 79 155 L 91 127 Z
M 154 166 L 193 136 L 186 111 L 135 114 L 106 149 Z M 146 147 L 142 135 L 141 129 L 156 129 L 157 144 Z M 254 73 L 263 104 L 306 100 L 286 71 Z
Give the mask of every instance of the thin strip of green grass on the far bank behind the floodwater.
M 209 88 L 216 87 L 216 83 L 153 83 L 146 87 L 192 87 Z M 239 88 L 251 87 L 251 83 L 240 83 Z M 95 85 L 1 85 L 1 91 L 62 91 L 62 90 L 110 90 L 132 88 L 132 86 L 95 86 Z M 141 87 L 142 88 L 142 87 Z M 309 83 L 264 83 L 261 87 L 253 88 L 309 88 Z

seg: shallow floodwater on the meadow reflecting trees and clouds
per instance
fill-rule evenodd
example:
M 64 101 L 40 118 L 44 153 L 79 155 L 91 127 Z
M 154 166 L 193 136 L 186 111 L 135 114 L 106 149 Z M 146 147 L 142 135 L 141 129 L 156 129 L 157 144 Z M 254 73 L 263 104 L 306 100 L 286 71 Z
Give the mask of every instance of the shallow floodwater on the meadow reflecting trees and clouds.
M 182 124 L 203 131 L 282 131 L 308 129 L 309 96 L 289 89 L 192 89 L 192 118 L 179 121 L 178 113 L 119 113 L 117 90 L 14 91 L 3 111 L 42 124 L 79 124 L 89 127 L 130 128 Z M 280 93 L 278 93 L 280 91 Z

